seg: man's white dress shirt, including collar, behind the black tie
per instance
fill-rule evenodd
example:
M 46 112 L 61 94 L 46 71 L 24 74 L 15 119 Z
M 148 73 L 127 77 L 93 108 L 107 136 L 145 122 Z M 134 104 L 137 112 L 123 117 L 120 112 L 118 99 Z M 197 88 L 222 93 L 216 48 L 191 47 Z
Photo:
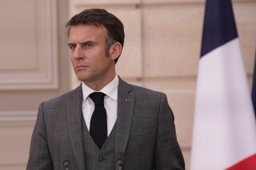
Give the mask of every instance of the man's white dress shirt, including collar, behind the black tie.
M 107 122 L 107 136 L 110 135 L 115 121 L 117 121 L 118 115 L 118 76 L 114 77 L 114 80 L 106 85 L 98 92 L 105 93 L 104 106 L 106 108 L 106 122 Z M 90 118 L 94 113 L 94 101 L 89 97 L 90 93 L 94 93 L 93 89 L 90 89 L 87 85 L 82 83 L 82 114 L 86 121 L 86 126 L 90 131 Z

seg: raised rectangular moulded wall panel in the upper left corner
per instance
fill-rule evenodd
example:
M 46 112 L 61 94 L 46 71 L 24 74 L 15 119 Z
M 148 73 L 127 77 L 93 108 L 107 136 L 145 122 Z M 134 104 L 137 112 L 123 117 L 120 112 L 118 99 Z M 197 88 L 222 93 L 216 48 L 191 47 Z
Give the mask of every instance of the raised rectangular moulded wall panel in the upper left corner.
M 57 89 L 56 0 L 10 0 L 0 11 L 0 90 Z

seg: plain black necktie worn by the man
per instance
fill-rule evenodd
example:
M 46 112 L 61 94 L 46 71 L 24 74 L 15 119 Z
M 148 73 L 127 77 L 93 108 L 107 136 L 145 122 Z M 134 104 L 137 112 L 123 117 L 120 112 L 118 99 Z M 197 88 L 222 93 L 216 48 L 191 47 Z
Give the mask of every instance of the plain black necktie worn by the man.
M 94 92 L 89 95 L 95 105 L 94 113 L 90 118 L 90 136 L 100 149 L 107 138 L 106 109 L 104 107 L 105 95 L 101 92 Z

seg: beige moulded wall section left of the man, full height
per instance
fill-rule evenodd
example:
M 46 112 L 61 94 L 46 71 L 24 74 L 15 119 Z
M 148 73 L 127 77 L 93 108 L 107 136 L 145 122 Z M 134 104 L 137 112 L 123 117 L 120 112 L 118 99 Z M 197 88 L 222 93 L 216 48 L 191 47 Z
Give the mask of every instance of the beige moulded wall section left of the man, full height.
M 1 1 L 0 170 L 26 169 L 38 105 L 70 90 L 63 0 Z

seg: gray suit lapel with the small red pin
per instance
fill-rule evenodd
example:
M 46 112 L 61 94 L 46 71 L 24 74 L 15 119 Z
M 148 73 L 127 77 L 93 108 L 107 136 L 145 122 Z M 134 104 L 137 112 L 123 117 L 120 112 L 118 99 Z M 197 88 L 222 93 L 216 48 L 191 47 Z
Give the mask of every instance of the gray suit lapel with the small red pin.
M 133 117 L 134 95 L 130 93 L 130 85 L 119 77 L 118 84 L 118 118 L 115 140 L 115 152 L 125 152 L 130 136 Z

